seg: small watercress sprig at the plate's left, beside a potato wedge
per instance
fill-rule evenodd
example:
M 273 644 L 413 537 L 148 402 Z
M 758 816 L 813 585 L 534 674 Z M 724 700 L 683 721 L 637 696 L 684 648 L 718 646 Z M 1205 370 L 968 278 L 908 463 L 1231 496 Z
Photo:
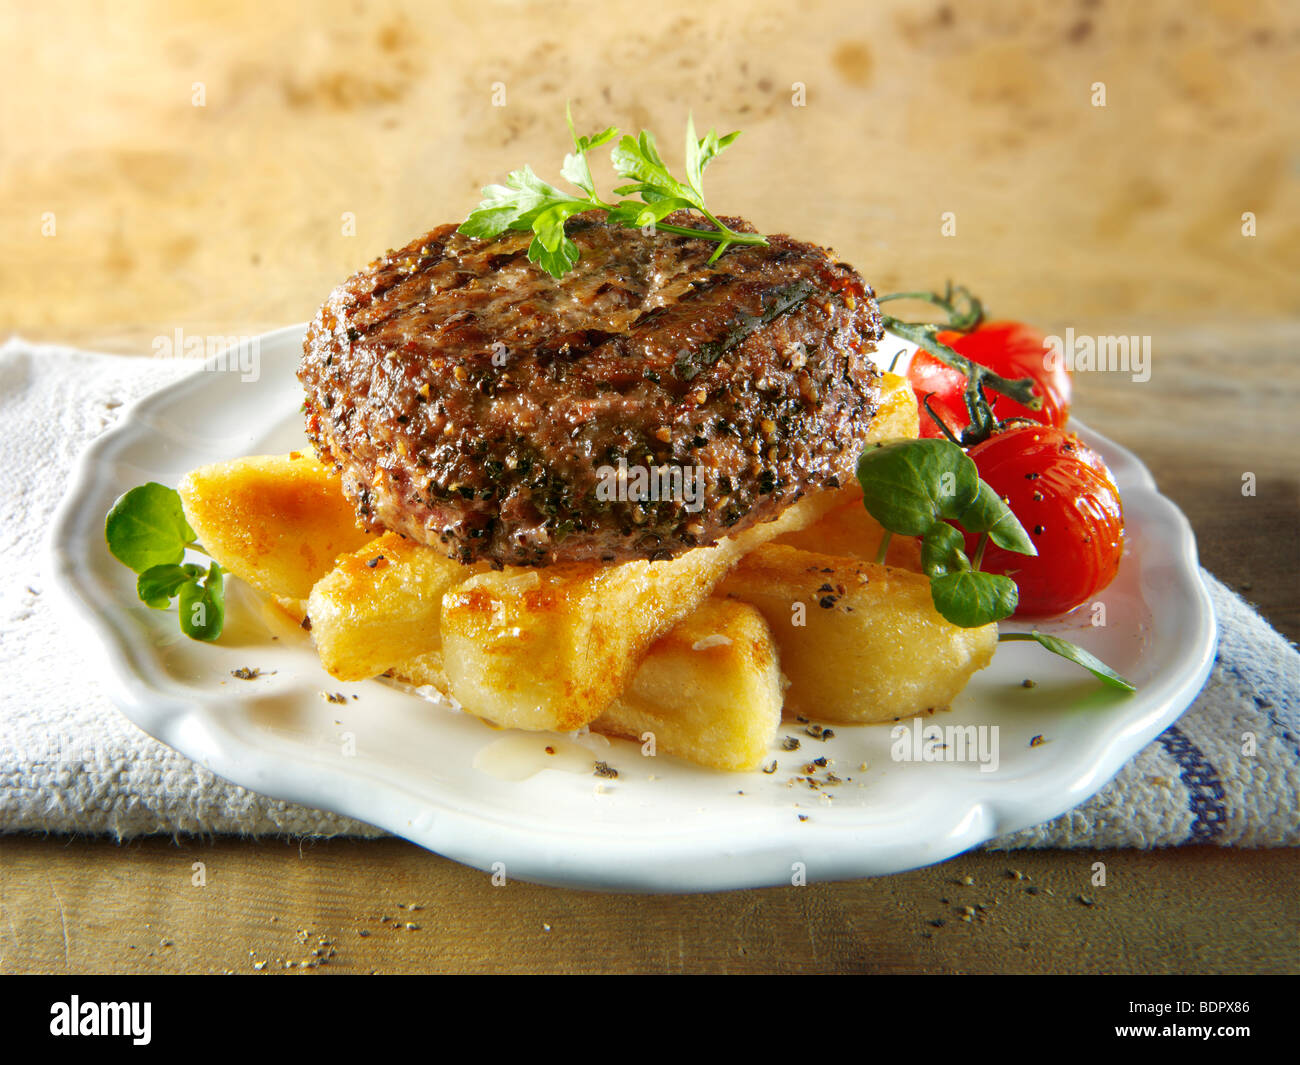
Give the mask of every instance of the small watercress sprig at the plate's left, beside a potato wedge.
M 186 562 L 186 551 L 207 554 L 185 520 L 176 489 L 156 481 L 133 488 L 113 503 L 104 521 L 104 540 L 113 558 L 138 577 L 135 594 L 155 610 L 179 597 L 181 632 L 191 640 L 216 640 L 225 624 L 221 567 Z

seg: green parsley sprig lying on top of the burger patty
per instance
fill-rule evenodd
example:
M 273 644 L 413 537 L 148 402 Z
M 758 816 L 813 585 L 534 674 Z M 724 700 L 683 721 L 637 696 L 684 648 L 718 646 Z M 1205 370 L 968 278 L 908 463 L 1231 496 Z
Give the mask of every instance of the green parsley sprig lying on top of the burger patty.
M 581 195 L 556 189 L 525 164 L 512 170 L 506 177 L 504 185 L 489 185 L 484 189 L 478 209 L 471 212 L 460 224 L 460 233 L 490 241 L 508 229 L 524 233 L 532 230 L 528 259 L 555 278 L 572 270 L 580 255 L 577 244 L 564 233 L 564 222 L 585 211 L 603 211 L 614 225 L 633 229 L 654 226 L 663 233 L 715 241 L 718 248 L 710 256 L 710 263 L 718 261 L 732 244 L 767 243 L 767 238 L 762 234 L 737 233 L 724 225 L 705 204 L 705 169 L 740 137 L 738 130 L 725 137 L 719 137 L 716 130 L 708 130 L 702 138 L 697 138 L 694 118 L 688 117 L 685 181 L 679 181 L 668 170 L 653 133 L 641 130 L 640 137 L 625 134 L 610 150 L 610 160 L 615 173 L 630 183 L 615 189 L 614 195 L 640 199 L 610 203 L 595 191 L 588 153 L 615 140 L 619 130 L 608 126 L 590 137 L 580 137 L 573 127 L 573 113 L 569 108 L 566 108 L 566 118 L 573 151 L 564 156 L 560 174 Z M 673 211 L 694 211 L 702 215 L 712 229 L 693 229 L 664 222 L 663 220 Z

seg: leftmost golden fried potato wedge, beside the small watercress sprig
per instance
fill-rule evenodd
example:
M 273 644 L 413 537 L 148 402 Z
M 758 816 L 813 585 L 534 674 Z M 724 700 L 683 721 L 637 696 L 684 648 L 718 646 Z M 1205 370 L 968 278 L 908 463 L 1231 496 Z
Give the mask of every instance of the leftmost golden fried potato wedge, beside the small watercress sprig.
M 356 527 L 333 471 L 298 451 L 200 467 L 178 492 L 204 549 L 268 596 L 307 598 L 335 558 L 373 536 Z

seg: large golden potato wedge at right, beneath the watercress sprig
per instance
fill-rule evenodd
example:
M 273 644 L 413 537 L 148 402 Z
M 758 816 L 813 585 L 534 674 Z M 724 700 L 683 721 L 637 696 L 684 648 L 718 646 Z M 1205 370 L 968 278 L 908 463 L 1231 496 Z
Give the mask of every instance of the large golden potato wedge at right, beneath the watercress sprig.
M 997 625 L 958 628 L 930 580 L 888 566 L 767 545 L 720 594 L 763 614 L 780 649 L 785 714 L 866 724 L 948 707 L 997 646 Z

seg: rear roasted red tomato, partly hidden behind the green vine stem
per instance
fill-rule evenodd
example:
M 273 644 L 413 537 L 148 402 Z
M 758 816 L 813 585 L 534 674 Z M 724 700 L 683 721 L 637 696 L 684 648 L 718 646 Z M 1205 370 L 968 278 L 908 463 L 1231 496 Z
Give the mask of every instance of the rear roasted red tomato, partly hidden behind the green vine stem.
M 1005 395 L 989 393 L 993 416 L 998 421 L 1028 417 L 1043 425 L 1060 428 L 1070 417 L 1070 372 L 1063 365 L 1049 368 L 1044 337 L 1037 329 L 1018 321 L 992 321 L 974 333 L 940 333 L 939 341 L 1001 377 L 1013 381 L 1019 377 L 1034 380 L 1043 397 L 1043 407 L 1037 411 Z M 920 403 L 928 395 L 931 408 L 953 436 L 970 424 L 966 401 L 962 398 L 966 375 L 944 365 L 928 351 L 918 351 L 907 364 L 907 380 L 916 393 L 916 402 Z M 942 436 L 924 407 L 920 410 L 920 436 Z

